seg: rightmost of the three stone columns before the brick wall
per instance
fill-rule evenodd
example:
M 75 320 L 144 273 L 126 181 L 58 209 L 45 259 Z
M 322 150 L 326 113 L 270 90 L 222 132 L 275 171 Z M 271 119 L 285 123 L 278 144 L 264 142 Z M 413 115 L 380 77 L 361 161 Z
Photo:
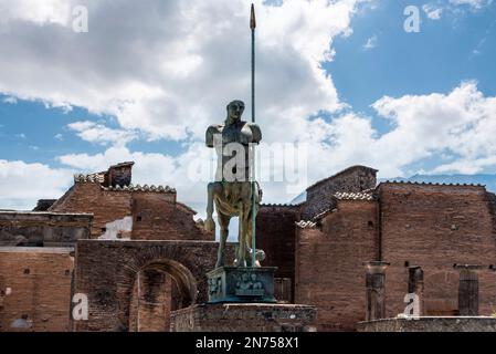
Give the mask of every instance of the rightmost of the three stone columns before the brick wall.
M 454 264 L 460 271 L 458 314 L 461 316 L 478 315 L 478 270 L 482 266 Z

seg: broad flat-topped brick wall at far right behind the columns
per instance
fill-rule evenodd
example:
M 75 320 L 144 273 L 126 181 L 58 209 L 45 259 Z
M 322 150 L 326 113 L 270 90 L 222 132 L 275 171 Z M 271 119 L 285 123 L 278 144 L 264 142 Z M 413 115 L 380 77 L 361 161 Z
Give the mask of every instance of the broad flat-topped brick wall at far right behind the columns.
M 382 259 L 387 315 L 403 312 L 408 269 L 424 270 L 426 314 L 456 314 L 458 271 L 454 263 L 483 264 L 479 313 L 490 315 L 496 304 L 496 262 L 493 206 L 484 187 L 382 184 Z

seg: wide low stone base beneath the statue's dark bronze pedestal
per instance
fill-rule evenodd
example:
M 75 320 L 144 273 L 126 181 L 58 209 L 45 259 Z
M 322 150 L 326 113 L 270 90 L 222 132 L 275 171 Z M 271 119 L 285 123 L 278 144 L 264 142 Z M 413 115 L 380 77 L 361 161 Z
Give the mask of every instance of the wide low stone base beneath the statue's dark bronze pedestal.
M 199 304 L 170 314 L 171 332 L 315 332 L 317 310 L 268 303 Z

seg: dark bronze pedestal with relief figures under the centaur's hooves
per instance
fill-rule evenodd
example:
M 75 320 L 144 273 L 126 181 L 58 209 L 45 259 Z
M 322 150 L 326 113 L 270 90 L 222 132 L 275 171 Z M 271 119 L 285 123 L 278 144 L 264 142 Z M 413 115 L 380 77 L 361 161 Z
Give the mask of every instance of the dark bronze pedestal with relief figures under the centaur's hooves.
M 209 303 L 275 303 L 275 267 L 221 267 L 207 273 Z

